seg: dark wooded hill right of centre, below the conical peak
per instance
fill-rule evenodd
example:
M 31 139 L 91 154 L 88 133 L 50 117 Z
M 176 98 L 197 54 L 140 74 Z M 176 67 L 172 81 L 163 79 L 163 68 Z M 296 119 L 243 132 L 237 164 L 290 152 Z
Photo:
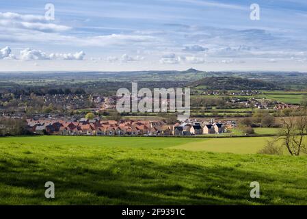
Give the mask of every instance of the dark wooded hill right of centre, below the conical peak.
M 211 90 L 276 90 L 274 83 L 258 79 L 245 79 L 239 77 L 204 77 L 190 84 L 190 87 L 205 86 Z

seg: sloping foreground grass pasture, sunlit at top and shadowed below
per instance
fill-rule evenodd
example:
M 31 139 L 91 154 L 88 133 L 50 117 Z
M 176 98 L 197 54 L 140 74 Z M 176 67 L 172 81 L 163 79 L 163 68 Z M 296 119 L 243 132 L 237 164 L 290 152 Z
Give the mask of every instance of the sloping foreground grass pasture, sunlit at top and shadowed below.
M 0 139 L 1 205 L 307 205 L 307 157 L 13 139 Z M 55 183 L 52 200 L 46 181 Z M 261 198 L 250 198 L 252 181 Z

